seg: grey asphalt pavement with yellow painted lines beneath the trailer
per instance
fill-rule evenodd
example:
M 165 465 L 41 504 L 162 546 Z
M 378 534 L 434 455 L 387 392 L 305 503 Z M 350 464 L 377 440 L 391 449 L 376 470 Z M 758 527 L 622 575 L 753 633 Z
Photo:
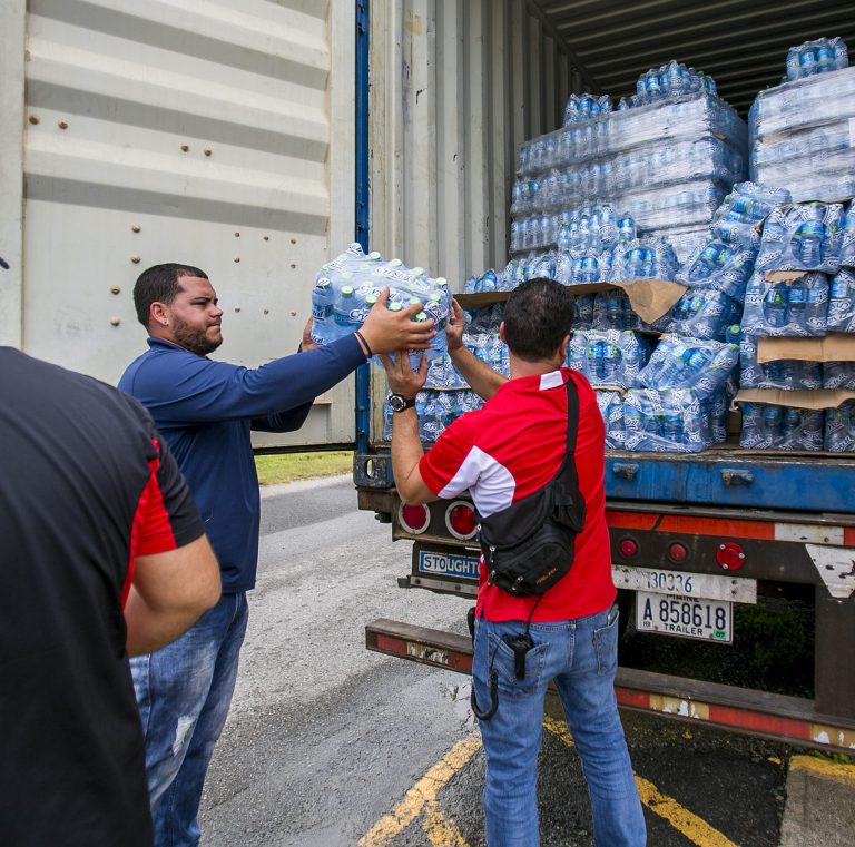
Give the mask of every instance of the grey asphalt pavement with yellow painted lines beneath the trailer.
M 466 602 L 399 589 L 409 544 L 392 543 L 389 525 L 355 503 L 350 477 L 264 493 L 258 585 L 203 798 L 203 847 L 484 844 L 468 677 L 364 648 L 365 623 L 380 617 L 462 633 Z M 792 748 L 650 715 L 623 719 L 651 847 L 778 847 L 785 836 L 780 847 L 813 847 L 804 833 L 814 830 L 822 847 L 855 843 L 845 817 L 854 806 L 842 799 L 852 792 L 817 789 L 804 767 L 798 776 Z M 559 720 L 546 727 L 542 845 L 589 847 L 572 739 Z M 831 797 L 829 815 L 818 804 Z

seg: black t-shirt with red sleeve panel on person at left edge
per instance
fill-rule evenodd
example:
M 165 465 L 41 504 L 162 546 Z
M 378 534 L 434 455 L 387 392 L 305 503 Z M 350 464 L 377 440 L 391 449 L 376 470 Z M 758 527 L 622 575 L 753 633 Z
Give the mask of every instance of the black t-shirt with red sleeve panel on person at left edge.
M 0 347 L 0 843 L 150 847 L 121 607 L 203 533 L 148 413 Z

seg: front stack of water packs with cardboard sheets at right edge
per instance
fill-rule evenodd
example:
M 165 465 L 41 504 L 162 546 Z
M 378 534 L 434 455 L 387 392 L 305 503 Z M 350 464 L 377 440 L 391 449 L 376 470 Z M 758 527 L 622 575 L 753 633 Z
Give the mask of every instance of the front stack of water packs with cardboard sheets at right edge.
M 855 334 L 855 207 L 803 203 L 776 206 L 763 226 L 745 295 L 740 387 L 855 390 L 854 362 L 758 362 L 758 338 Z M 853 403 L 836 408 L 741 403 L 740 444 L 753 450 L 851 451 Z

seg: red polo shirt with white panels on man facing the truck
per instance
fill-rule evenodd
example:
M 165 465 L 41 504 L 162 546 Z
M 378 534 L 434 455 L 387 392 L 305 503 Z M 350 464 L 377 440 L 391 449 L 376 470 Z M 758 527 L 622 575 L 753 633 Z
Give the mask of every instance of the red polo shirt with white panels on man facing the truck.
M 588 381 L 570 367 L 510 380 L 483 408 L 454 421 L 419 464 L 431 491 L 453 499 L 469 490 L 482 516 L 531 494 L 561 466 L 567 446 L 568 378 L 579 394 L 576 467 L 586 503 L 584 528 L 576 536 L 572 568 L 542 595 L 534 621 L 583 618 L 615 601 L 605 512 L 605 425 Z M 488 585 L 481 562 L 479 617 L 527 620 L 537 600 Z

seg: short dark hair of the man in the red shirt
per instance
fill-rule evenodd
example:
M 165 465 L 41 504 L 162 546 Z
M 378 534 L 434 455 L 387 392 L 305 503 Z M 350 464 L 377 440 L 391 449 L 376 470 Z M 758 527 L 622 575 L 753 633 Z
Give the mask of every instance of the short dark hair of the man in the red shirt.
M 573 295 L 554 279 L 529 279 L 504 306 L 508 348 L 525 362 L 552 358 L 572 323 Z

